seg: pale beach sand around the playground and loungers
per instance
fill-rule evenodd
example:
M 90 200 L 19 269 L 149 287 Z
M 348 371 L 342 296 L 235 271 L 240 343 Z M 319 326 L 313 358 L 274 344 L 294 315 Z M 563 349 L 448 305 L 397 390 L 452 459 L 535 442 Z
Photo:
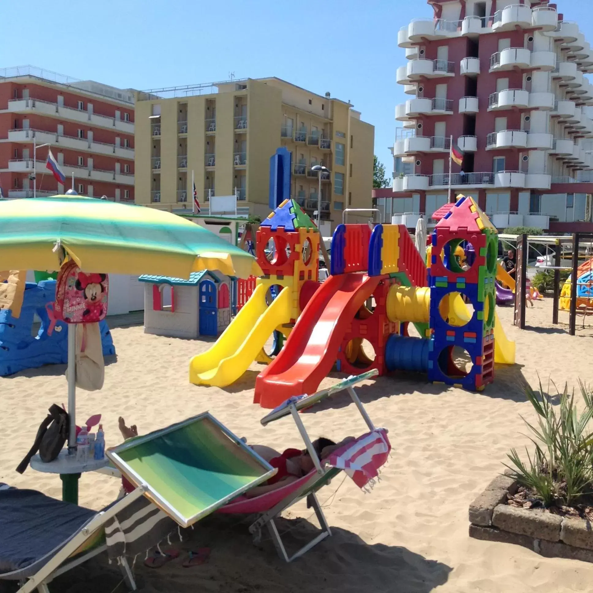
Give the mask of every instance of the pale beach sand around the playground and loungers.
M 248 522 L 212 516 L 196 524 L 179 544 L 190 550 L 208 546 L 208 564 L 184 569 L 181 559 L 159 570 L 136 563 L 139 590 L 251 593 L 305 591 L 502 593 L 520 591 L 591 591 L 593 566 L 575 560 L 548 559 L 519 546 L 468 537 L 468 505 L 503 471 L 511 447 L 527 439 L 519 415 L 533 418 L 523 394 L 526 382 L 537 387 L 538 374 L 547 387 L 576 385 L 580 377 L 593 383 L 593 329 L 568 335 L 568 313 L 551 325 L 551 301 L 527 310 L 530 329 L 512 326 L 512 309 L 499 308 L 509 339 L 517 342 L 517 362 L 498 366 L 495 383 L 481 393 L 428 384 L 423 375 L 381 377 L 358 388 L 375 425 L 389 429 L 393 451 L 371 493 L 359 490 L 343 474 L 320 491 L 333 537 L 296 562 L 286 565 L 264 533 L 260 546 L 251 543 Z M 587 319 L 589 321 L 590 318 Z M 593 320 L 591 320 L 593 323 Z M 169 339 L 143 333 L 141 326 L 114 328 L 117 362 L 106 367 L 103 390 L 78 391 L 77 419 L 103 414 L 107 445 L 120 442 L 117 417 L 148 432 L 209 410 L 251 443 L 282 450 L 301 444 L 287 418 L 263 428 L 265 410 L 251 403 L 254 381 L 262 368 L 254 364 L 226 389 L 189 384 L 191 356 L 211 342 Z M 0 482 L 34 488 L 60 498 L 58 476 L 30 468 L 14 471 L 33 443 L 39 423 L 52 403 L 65 403 L 63 366 L 52 366 L 0 378 Z M 332 374 L 322 385 L 342 375 Z M 341 393 L 304 415 L 313 436 L 335 440 L 365 432 L 347 394 Z M 97 473 L 80 480 L 80 503 L 99 509 L 116 498 L 119 482 Z M 299 503 L 278 522 L 295 549 L 313 537 L 315 519 Z M 117 567 L 98 557 L 56 579 L 59 593 L 125 591 Z M 1 581 L 0 581 L 1 583 Z M 119 586 L 118 586 L 119 584 Z M 4 585 L 0 584 L 0 591 Z

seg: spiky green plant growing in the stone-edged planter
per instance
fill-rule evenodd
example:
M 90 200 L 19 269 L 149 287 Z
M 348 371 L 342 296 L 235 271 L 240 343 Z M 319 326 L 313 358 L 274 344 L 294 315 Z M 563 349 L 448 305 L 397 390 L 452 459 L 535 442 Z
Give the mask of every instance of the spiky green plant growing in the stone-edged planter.
M 580 415 L 574 403 L 574 392 L 550 396 L 540 382 L 540 396 L 527 388 L 527 399 L 537 412 L 537 425 L 524 419 L 535 445 L 533 455 L 527 448 L 527 461 L 521 460 L 515 449 L 508 454 L 513 477 L 531 490 L 545 506 L 575 505 L 583 495 L 593 492 L 593 433 L 589 421 L 593 417 L 591 391 L 579 381 L 585 401 Z M 559 406 L 553 400 L 559 398 Z

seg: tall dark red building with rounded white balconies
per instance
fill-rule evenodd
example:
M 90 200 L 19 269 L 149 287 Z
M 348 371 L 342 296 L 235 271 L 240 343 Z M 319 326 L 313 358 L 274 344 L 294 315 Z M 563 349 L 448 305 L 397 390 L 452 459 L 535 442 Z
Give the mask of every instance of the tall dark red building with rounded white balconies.
M 393 192 L 375 190 L 377 204 L 413 228 L 464 193 L 498 228 L 593 229 L 593 51 L 578 24 L 547 0 L 428 4 L 432 19 L 398 33 L 410 98 L 396 107 Z M 448 196 L 451 136 L 465 154 Z

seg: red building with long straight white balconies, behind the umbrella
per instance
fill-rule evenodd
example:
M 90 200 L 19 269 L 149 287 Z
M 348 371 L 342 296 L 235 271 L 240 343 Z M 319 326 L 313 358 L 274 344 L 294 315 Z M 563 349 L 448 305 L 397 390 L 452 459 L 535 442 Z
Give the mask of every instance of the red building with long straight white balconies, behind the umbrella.
M 0 69 L 0 187 L 4 198 L 63 193 L 134 199 L 134 95 L 33 66 Z M 37 146 L 34 165 L 34 144 Z M 66 175 L 46 166 L 47 151 Z

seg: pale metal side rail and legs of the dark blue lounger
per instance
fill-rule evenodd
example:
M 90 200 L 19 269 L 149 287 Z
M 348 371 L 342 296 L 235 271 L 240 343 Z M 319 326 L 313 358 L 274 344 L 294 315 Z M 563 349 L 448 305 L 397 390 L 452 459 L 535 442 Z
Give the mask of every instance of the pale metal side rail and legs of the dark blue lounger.
M 87 524 L 80 528 L 78 533 L 72 537 L 65 546 L 61 547 L 53 557 L 48 560 L 36 573 L 32 576 L 28 576 L 21 579 L 21 588 L 18 589 L 17 593 L 31 593 L 37 589 L 39 593 L 49 593 L 49 587 L 47 586 L 56 576 L 62 575 L 68 570 L 86 562 L 88 559 L 107 549 L 107 546 L 103 544 L 97 548 L 75 556 L 70 562 L 68 559 L 78 550 L 84 543 L 95 534 L 95 532 L 104 527 L 107 521 L 110 521 L 115 515 L 117 515 L 127 505 L 132 503 L 137 498 L 140 498 L 145 493 L 144 487 L 138 487 L 133 492 L 124 498 L 117 500 L 116 503 L 111 505 L 104 511 L 99 511 Z M 131 591 L 136 591 L 136 582 L 132 570 L 126 559 L 120 559 L 120 569 L 122 570 L 122 576 L 125 584 Z M 15 571 L 18 572 L 18 571 Z M 10 573 L 2 575 L 3 578 L 8 578 Z

